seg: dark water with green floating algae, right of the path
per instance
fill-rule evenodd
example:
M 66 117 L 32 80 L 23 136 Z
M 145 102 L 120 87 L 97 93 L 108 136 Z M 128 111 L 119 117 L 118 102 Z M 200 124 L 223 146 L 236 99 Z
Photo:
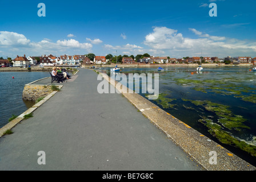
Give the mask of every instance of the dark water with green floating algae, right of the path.
M 255 165 L 256 73 L 250 69 L 123 68 L 121 73 L 159 73 L 159 97 L 151 102 Z M 110 76 L 108 68 L 102 72 Z

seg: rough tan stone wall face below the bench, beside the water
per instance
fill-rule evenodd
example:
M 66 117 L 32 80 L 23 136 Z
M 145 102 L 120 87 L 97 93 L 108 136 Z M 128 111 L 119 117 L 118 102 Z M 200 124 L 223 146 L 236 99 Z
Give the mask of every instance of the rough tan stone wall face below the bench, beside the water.
M 46 97 L 53 92 L 50 85 L 25 85 L 22 98 L 24 100 L 36 101 L 39 97 Z

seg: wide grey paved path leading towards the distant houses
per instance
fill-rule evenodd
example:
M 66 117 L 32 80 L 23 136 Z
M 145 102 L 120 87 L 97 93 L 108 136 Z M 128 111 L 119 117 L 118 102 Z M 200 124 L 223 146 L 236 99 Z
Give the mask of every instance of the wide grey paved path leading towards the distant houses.
M 97 76 L 80 69 L 1 137 L 0 170 L 201 170 L 122 95 L 99 94 Z

